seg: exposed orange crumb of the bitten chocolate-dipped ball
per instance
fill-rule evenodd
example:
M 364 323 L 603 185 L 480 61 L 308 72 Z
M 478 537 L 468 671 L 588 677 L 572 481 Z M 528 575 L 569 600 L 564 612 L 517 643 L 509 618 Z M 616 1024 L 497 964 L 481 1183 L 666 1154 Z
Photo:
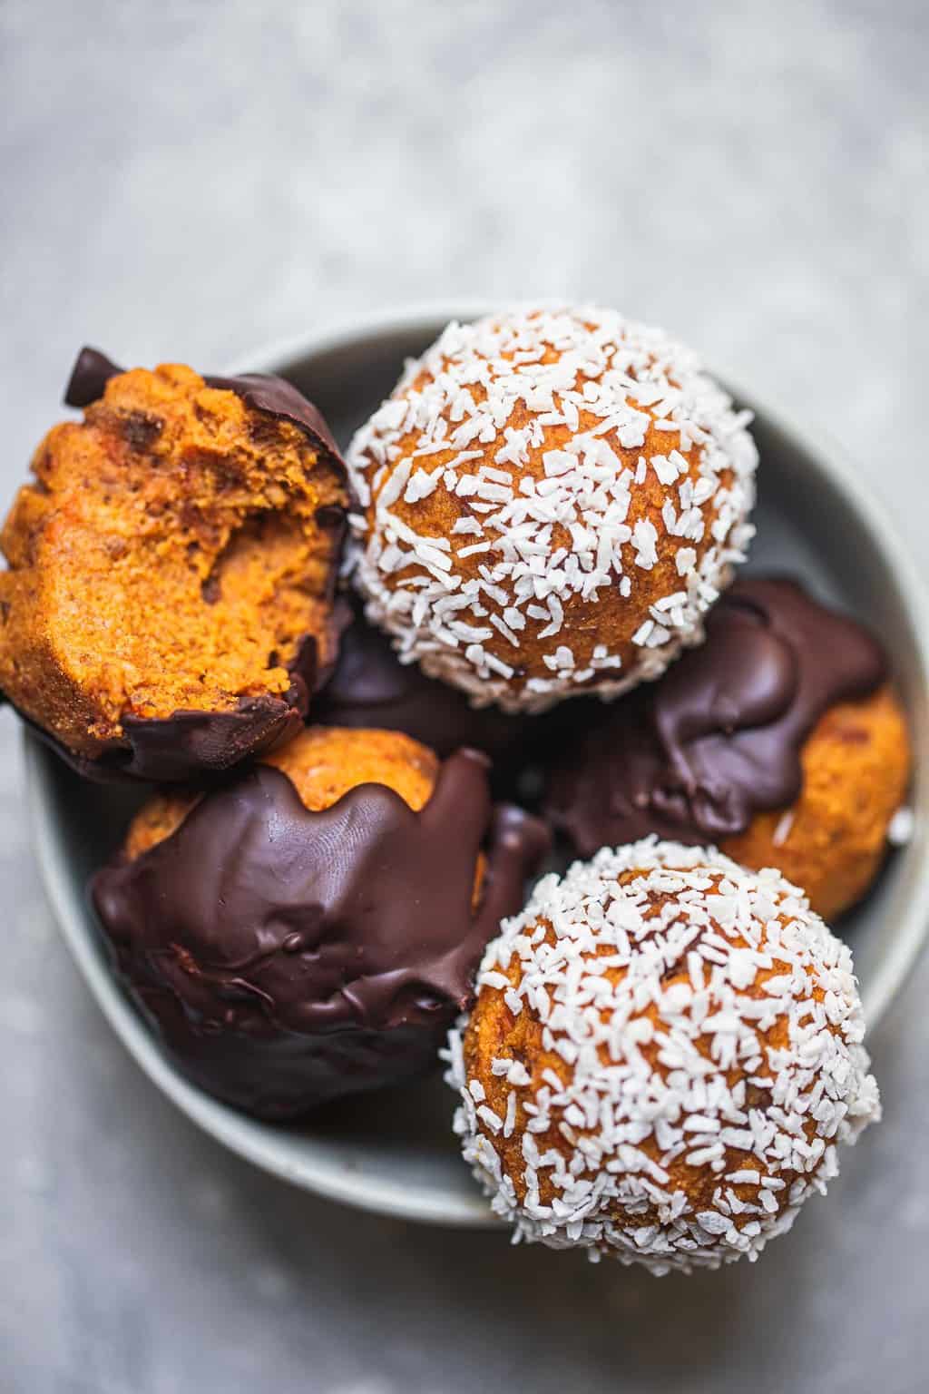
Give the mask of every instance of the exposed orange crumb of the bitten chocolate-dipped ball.
M 0 687 L 71 750 L 127 715 L 284 694 L 302 638 L 331 643 L 316 510 L 345 485 L 291 422 L 180 364 L 136 368 L 32 471 L 0 535 Z

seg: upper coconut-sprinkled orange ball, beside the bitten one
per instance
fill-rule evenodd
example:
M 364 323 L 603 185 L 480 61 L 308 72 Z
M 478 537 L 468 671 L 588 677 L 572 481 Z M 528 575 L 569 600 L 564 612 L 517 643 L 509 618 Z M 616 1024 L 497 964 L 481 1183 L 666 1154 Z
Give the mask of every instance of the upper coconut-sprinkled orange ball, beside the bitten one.
M 448 325 L 348 454 L 369 619 L 510 712 L 656 677 L 744 559 L 748 421 L 687 348 L 613 311 Z

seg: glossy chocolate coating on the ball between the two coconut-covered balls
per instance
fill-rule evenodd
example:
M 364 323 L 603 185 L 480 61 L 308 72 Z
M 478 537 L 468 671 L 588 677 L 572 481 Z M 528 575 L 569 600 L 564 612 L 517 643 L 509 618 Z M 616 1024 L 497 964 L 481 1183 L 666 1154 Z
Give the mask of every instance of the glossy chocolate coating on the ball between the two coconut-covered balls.
M 545 813 L 581 856 L 649 832 L 705 843 L 794 803 L 801 749 L 836 703 L 886 680 L 879 643 L 791 580 L 737 581 L 706 643 L 591 714 L 561 750 Z

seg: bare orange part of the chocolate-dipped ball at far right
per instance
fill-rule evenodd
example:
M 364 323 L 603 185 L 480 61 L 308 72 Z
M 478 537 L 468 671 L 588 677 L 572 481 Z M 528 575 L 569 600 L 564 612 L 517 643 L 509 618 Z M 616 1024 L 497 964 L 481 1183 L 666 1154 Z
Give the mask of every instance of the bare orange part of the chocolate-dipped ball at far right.
M 721 850 L 752 870 L 779 867 L 818 914 L 834 920 L 868 891 L 887 846 L 887 824 L 907 795 L 907 722 L 890 687 L 832 707 L 802 750 L 797 803 L 752 818 Z

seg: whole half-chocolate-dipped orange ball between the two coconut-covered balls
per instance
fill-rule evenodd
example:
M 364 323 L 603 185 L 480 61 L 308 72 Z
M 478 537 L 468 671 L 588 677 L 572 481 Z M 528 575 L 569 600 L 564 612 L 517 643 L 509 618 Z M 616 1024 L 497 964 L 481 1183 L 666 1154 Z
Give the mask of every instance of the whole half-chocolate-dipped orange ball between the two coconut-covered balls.
M 877 640 L 787 579 L 740 579 L 706 643 L 655 684 L 589 711 L 545 811 L 574 850 L 648 832 L 776 866 L 827 920 L 883 860 L 910 739 Z

